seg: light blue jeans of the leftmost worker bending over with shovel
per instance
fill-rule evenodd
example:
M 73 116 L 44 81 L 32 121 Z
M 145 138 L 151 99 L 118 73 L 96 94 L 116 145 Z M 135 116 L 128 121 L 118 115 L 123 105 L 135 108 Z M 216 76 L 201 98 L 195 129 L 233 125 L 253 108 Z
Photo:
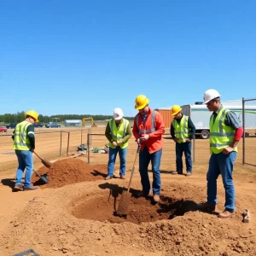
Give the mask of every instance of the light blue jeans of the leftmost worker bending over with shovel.
M 16 185 L 22 184 L 21 179 L 23 176 L 23 172 L 26 168 L 25 180 L 24 180 L 24 188 L 29 188 L 31 186 L 31 177 L 33 171 L 33 156 L 32 151 L 30 150 L 15 150 L 15 154 L 18 158 L 18 169 L 16 173 Z

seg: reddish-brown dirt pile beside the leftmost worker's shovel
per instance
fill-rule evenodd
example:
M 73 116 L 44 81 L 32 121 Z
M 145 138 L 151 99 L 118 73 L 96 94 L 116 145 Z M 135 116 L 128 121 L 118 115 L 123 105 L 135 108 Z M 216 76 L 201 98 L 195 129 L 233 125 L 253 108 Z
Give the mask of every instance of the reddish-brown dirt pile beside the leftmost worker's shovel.
M 50 168 L 42 166 L 37 171 L 49 179 L 48 184 L 41 183 L 37 175 L 32 176 L 32 183 L 42 188 L 60 188 L 67 184 L 102 179 L 108 173 L 106 165 L 89 165 L 83 160 L 69 158 L 57 160 Z

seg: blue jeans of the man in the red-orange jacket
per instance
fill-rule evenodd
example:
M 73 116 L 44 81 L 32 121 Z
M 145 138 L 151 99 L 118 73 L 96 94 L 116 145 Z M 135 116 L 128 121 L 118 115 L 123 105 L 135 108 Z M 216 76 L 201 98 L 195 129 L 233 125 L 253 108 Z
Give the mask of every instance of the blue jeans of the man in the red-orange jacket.
M 153 172 L 153 194 L 160 195 L 161 179 L 160 179 L 160 161 L 162 156 L 162 148 L 153 154 L 148 152 L 148 148 L 143 148 L 139 154 L 139 171 L 141 175 L 141 183 L 143 185 L 143 192 L 145 195 L 149 194 L 150 183 L 148 177 L 148 165 L 151 160 L 152 172 Z

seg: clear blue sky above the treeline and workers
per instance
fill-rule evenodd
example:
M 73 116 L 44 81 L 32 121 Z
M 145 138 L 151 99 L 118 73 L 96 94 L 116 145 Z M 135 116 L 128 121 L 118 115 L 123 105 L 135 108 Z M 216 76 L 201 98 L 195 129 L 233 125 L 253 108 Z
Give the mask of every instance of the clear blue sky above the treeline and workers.
M 0 0 L 0 114 L 256 97 L 256 1 Z

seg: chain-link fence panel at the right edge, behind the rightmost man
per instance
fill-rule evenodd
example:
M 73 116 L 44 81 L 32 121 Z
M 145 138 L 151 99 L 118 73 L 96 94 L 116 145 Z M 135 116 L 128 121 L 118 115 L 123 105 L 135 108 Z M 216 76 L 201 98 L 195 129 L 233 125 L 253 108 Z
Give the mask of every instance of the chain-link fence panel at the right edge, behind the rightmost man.
M 256 166 L 256 99 L 242 98 L 242 163 Z

